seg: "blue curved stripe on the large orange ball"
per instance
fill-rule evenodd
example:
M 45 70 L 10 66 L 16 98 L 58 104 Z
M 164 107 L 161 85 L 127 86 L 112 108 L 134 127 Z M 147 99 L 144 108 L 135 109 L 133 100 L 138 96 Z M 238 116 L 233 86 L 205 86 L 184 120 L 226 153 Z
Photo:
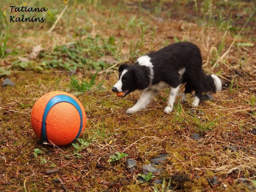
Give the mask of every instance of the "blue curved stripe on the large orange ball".
M 52 97 L 52 99 L 49 100 L 49 102 L 47 103 L 45 109 L 44 109 L 44 115 L 43 115 L 43 122 L 42 122 L 42 129 L 41 129 L 41 139 L 45 142 L 49 142 L 47 139 L 47 135 L 46 135 L 46 118 L 47 115 L 50 111 L 50 109 L 61 102 L 67 102 L 72 104 L 78 111 L 79 115 L 80 115 L 80 128 L 79 128 L 79 132 L 76 135 L 76 138 L 71 142 L 73 143 L 74 141 L 76 141 L 76 139 L 79 137 L 81 131 L 82 131 L 82 127 L 83 127 L 83 114 L 82 114 L 82 110 L 79 106 L 79 104 L 76 102 L 76 100 L 74 100 L 72 97 L 69 97 L 68 95 L 56 95 L 54 97 Z

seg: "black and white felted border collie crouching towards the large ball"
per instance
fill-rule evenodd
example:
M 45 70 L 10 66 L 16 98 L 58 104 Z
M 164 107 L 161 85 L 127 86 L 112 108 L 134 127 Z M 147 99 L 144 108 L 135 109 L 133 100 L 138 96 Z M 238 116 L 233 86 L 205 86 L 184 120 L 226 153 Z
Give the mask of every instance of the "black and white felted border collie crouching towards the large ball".
M 202 100 L 202 92 L 216 93 L 221 90 L 219 77 L 204 73 L 200 49 L 189 42 L 174 43 L 141 56 L 131 66 L 121 65 L 118 72 L 119 80 L 112 88 L 118 96 L 124 97 L 136 89 L 144 90 L 127 113 L 146 108 L 156 94 L 166 87 L 170 88 L 170 94 L 164 112 L 170 113 L 182 83 L 185 84 L 185 94 L 195 91 L 193 107 L 197 107 Z

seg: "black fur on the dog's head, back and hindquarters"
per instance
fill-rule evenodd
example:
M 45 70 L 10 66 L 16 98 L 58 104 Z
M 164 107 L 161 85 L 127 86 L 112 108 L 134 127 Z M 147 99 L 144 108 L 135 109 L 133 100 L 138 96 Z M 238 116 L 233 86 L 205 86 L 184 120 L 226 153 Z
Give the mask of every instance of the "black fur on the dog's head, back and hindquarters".
M 138 62 L 131 66 L 123 64 L 119 67 L 120 75 L 124 69 L 128 70 L 122 78 L 122 90 L 129 90 L 127 94 L 136 89 L 145 89 L 150 84 L 158 84 L 161 81 L 174 88 L 181 83 L 186 83 L 185 93 L 195 91 L 195 95 L 200 100 L 202 100 L 202 92 L 216 92 L 213 78 L 203 71 L 200 49 L 195 44 L 175 43 L 147 55 L 153 64 L 152 82 L 150 82 L 150 69 L 139 65 Z M 179 70 L 183 68 L 185 68 L 185 72 L 180 76 Z

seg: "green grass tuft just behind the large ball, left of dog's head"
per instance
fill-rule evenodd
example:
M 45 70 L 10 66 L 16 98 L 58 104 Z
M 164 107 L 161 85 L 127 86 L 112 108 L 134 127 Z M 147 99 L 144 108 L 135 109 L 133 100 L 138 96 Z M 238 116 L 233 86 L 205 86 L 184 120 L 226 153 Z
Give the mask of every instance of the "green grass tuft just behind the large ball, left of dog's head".
M 71 83 L 72 89 L 77 91 L 78 94 L 82 94 L 88 90 L 91 90 L 93 88 L 93 85 L 95 84 L 95 78 L 97 74 L 98 74 L 98 71 L 92 76 L 92 79 L 90 80 L 89 83 L 86 81 L 84 81 L 83 83 L 78 82 L 75 76 L 71 76 L 70 83 Z M 102 81 L 99 85 L 97 85 L 95 89 L 99 89 L 103 83 L 104 81 Z

